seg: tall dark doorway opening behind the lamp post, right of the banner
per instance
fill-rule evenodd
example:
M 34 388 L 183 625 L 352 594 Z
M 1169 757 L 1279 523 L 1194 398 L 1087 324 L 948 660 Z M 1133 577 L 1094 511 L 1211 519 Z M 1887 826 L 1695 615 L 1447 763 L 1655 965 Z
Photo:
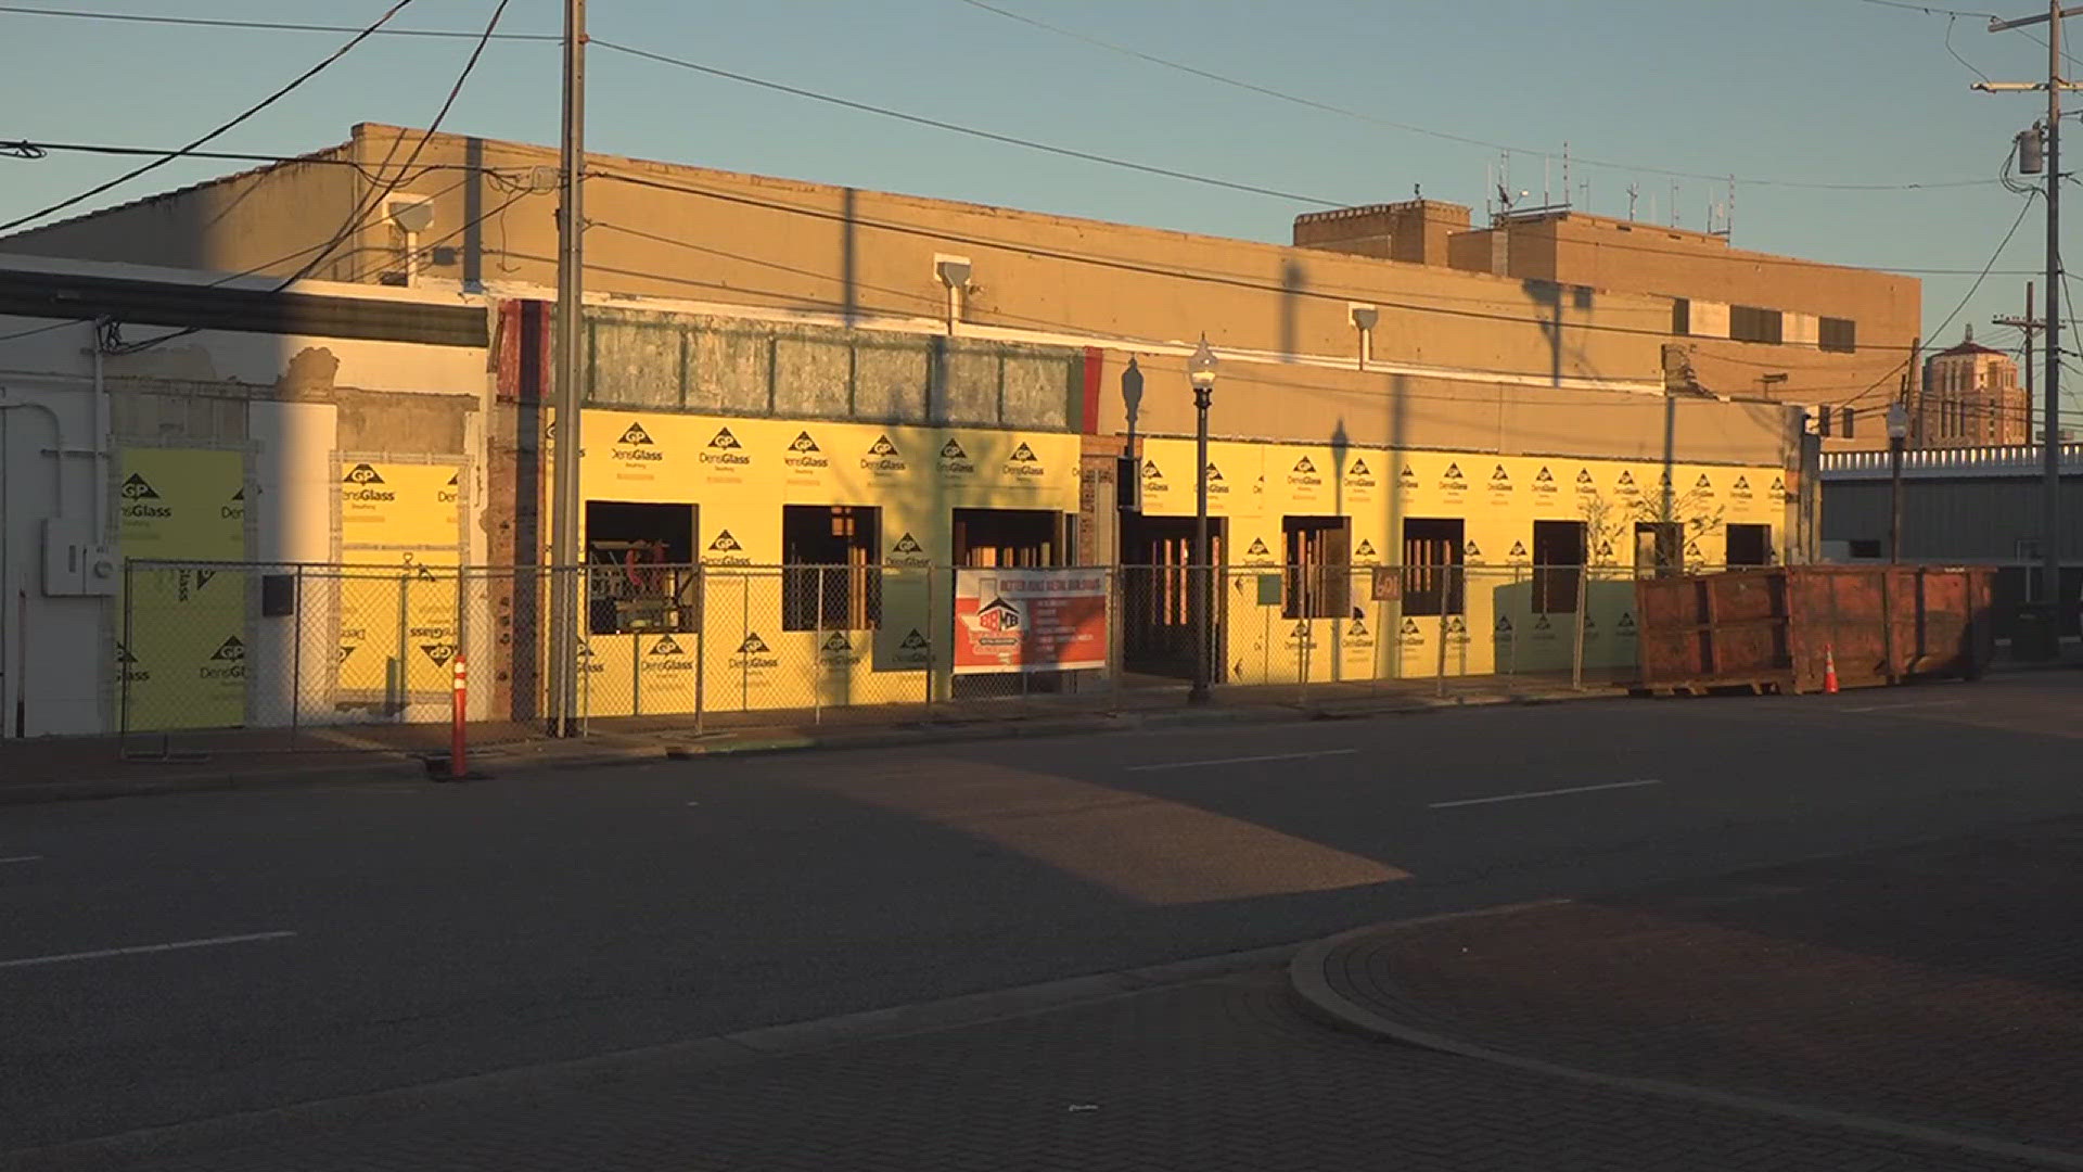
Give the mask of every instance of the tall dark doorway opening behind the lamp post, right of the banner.
M 1227 523 L 1208 517 L 1208 559 L 1214 573 L 1210 646 L 1223 644 L 1223 576 L 1229 561 Z M 1194 517 L 1129 513 L 1121 528 L 1121 665 L 1150 676 L 1194 678 Z M 1210 659 L 1223 678 L 1223 657 Z

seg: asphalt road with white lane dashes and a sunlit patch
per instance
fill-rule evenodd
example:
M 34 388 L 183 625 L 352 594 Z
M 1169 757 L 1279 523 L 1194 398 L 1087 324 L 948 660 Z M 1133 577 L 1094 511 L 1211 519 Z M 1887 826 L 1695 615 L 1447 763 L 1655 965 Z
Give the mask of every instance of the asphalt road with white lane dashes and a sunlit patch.
M 2077 813 L 2079 740 L 2039 674 L 12 807 L 0 1153 Z

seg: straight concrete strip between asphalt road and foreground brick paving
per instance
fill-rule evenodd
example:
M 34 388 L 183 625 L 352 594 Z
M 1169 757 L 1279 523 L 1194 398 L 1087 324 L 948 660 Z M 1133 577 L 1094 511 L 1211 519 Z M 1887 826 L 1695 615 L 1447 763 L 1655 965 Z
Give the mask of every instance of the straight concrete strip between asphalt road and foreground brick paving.
M 369 1095 L 344 1095 L 237 1112 L 208 1120 L 137 1128 L 119 1134 L 54 1143 L 44 1147 L 0 1151 L 0 1168 L 21 1172 L 83 1172 L 102 1168 L 135 1168 L 142 1159 L 173 1159 L 200 1151 L 254 1141 L 323 1134 L 348 1126 L 404 1120 L 425 1112 L 469 1105 L 485 1099 L 527 1101 L 535 1097 L 612 1086 L 671 1066 L 675 1072 L 717 1070 L 775 1057 L 808 1055 L 873 1041 L 933 1034 L 981 1026 L 1077 1005 L 1135 997 L 1156 988 L 1221 980 L 1237 972 L 1273 968 L 1287 961 L 1300 945 L 1273 945 L 1241 953 L 1221 953 L 1185 961 L 1156 963 L 1025 984 L 994 993 L 971 993 L 942 1001 L 921 1001 L 892 1009 L 842 1014 L 814 1022 L 789 1022 L 756 1030 L 735 1030 L 679 1043 L 612 1051 L 592 1057 L 546 1061 L 487 1074 L 467 1074 L 417 1086 L 396 1086 Z

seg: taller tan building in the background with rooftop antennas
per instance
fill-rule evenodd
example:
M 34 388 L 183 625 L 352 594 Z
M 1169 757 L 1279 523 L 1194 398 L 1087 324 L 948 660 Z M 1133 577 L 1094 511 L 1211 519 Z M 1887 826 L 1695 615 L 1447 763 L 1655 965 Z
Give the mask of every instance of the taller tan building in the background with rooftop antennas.
M 1294 242 L 1608 296 L 1652 296 L 1675 388 L 1812 409 L 1829 448 L 1887 446 L 1883 413 L 1916 363 L 1923 282 L 1731 248 L 1718 234 L 1529 211 L 1471 227 L 1408 200 L 1296 219 Z

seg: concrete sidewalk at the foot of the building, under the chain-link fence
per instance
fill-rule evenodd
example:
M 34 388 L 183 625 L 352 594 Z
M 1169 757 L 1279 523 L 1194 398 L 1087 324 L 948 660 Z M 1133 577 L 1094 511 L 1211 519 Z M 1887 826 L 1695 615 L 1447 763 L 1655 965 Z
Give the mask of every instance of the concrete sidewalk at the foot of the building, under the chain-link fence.
M 1566 678 L 1471 676 L 1450 678 L 1444 686 L 1437 680 L 1229 686 L 1216 688 L 1206 707 L 1189 707 L 1179 684 L 1019 701 L 721 713 L 702 722 L 685 715 L 614 717 L 587 722 L 577 738 L 546 736 L 535 724 L 481 722 L 467 730 L 467 761 L 477 778 L 504 778 L 714 755 L 1341 719 L 1614 697 L 1625 697 L 1625 690 L 1598 678 L 1573 688 Z M 450 732 L 444 724 L 352 724 L 0 740 L 0 805 L 444 778 Z

